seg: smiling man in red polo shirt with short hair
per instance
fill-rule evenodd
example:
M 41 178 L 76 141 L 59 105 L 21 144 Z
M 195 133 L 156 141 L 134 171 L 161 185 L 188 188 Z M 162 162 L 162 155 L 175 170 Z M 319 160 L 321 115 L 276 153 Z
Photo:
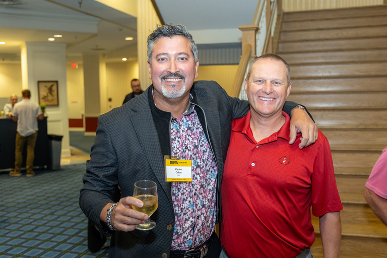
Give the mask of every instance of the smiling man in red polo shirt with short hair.
M 290 118 L 282 112 L 291 89 L 288 64 L 275 54 L 255 58 L 244 88 L 250 111 L 232 122 L 220 257 L 312 257 L 310 207 L 319 217 L 324 257 L 339 257 L 343 207 L 328 140 L 318 131 L 308 148 L 288 143 Z

